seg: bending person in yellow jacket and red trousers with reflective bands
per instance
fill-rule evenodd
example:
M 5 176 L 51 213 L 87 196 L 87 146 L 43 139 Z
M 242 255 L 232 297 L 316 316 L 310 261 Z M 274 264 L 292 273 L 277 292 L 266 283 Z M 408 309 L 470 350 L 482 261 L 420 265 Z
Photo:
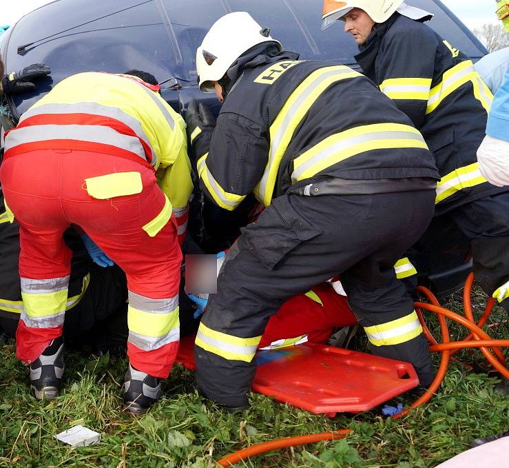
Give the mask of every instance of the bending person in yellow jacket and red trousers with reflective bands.
M 76 74 L 6 134 L 1 184 L 21 246 L 17 356 L 37 398 L 54 398 L 63 374 L 69 225 L 127 275 L 127 410 L 161 396 L 178 349 L 178 233 L 192 183 L 184 121 L 158 91 L 136 70 Z

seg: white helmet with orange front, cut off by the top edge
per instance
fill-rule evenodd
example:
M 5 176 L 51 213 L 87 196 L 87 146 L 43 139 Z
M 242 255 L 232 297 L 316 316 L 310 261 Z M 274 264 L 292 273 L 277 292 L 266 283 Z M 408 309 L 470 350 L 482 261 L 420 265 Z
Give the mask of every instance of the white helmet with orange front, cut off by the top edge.
M 407 5 L 403 0 L 324 0 L 322 30 L 337 19 L 342 19 L 353 8 L 364 10 L 375 23 L 384 23 L 396 11 L 417 21 L 426 21 L 433 17 L 430 12 Z

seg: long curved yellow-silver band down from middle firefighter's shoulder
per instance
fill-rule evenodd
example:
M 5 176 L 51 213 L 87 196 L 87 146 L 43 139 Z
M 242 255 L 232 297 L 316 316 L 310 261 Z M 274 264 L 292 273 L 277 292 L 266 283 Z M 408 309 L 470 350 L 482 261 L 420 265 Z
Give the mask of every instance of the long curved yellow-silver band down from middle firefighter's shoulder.
M 293 132 L 298 128 L 313 103 L 332 83 L 355 77 L 362 77 L 362 75 L 344 65 L 320 68 L 304 79 L 290 94 L 271 125 L 269 161 L 262 179 L 254 190 L 258 200 L 265 206 L 269 206 L 271 203 L 279 165 L 293 137 Z

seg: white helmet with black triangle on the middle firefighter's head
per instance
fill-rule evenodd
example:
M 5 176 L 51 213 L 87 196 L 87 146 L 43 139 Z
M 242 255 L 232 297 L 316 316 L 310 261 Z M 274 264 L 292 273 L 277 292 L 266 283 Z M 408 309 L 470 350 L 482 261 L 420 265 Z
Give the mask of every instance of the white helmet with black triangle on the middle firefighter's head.
M 225 76 L 232 63 L 244 52 L 263 42 L 274 42 L 269 28 L 262 28 L 247 12 L 225 14 L 214 23 L 196 50 L 196 71 L 200 90 L 214 92 L 212 81 Z

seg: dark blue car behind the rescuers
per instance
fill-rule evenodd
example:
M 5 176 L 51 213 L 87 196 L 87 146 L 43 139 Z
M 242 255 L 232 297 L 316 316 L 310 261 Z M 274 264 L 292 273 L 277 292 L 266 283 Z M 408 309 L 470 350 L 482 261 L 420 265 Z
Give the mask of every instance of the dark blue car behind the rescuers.
M 477 61 L 486 48 L 439 0 L 409 0 L 435 14 L 427 24 Z M 223 14 L 249 11 L 271 28 L 287 50 L 301 59 L 339 60 L 357 68 L 357 47 L 342 24 L 320 30 L 322 0 L 56 0 L 25 15 L 0 36 L 6 70 L 46 63 L 50 77 L 34 92 L 8 98 L 10 118 L 4 130 L 37 99 L 65 77 L 85 71 L 120 73 L 137 68 L 154 74 L 161 93 L 178 112 L 197 99 L 218 112 L 213 94 L 198 89 L 195 54 L 210 26 Z M 217 252 L 238 234 L 252 207 L 246 199 L 236 212 L 225 212 L 196 193 L 189 232 L 207 252 Z M 220 220 L 220 221 L 219 221 Z M 455 289 L 470 271 L 469 241 L 441 216 L 419 242 L 417 269 L 421 281 L 439 296 Z

